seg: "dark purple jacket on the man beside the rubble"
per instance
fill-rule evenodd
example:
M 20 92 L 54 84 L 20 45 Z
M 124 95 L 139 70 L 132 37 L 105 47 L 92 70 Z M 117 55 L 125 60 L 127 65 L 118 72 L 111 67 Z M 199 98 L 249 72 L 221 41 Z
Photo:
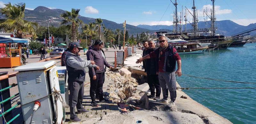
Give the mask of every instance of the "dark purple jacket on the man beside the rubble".
M 105 58 L 102 57 L 101 50 L 98 50 L 97 48 L 90 46 L 89 50 L 86 53 L 87 60 L 94 61 L 97 66 L 100 67 L 100 70 L 96 70 L 95 68 L 89 68 L 89 76 L 92 78 L 95 76 L 95 73 L 102 73 L 104 72 L 104 65 L 107 67 L 110 67 L 108 62 Z

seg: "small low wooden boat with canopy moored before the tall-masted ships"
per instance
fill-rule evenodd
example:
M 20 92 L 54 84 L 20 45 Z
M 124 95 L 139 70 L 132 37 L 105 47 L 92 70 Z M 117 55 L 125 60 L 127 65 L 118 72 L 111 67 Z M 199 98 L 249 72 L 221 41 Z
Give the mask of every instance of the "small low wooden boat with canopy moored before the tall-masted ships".
M 209 47 L 201 46 L 198 42 L 169 43 L 176 48 L 179 54 L 198 54 L 204 53 Z

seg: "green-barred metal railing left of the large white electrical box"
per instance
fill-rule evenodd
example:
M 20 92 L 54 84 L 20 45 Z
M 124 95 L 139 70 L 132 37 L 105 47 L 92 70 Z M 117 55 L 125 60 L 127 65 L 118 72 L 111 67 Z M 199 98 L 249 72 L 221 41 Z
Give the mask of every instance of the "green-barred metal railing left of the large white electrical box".
M 12 115 L 12 110 L 15 109 L 17 106 L 20 105 L 20 102 L 18 102 L 16 105 L 12 106 L 11 104 L 11 99 L 14 97 L 18 97 L 19 93 L 10 96 L 10 89 L 13 87 L 16 87 L 17 84 L 12 84 L 9 85 L 9 78 L 16 76 L 18 72 L 12 73 L 12 74 L 7 74 L 7 72 L 0 74 L 0 83 L 1 83 L 1 89 L 0 89 L 0 94 L 1 94 L 1 102 L 0 102 L 0 107 L 1 107 L 1 114 L 0 118 L 3 117 L 3 123 L 5 124 L 10 124 L 12 123 L 15 119 L 17 119 L 20 114 L 18 113 L 13 117 Z

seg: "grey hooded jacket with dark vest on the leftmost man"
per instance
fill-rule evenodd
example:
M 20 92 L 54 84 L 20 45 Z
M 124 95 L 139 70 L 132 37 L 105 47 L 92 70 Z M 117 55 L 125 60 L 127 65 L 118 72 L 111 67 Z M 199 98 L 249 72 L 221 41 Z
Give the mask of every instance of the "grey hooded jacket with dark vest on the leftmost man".
M 97 65 L 92 65 L 91 61 L 84 60 L 79 55 L 73 54 L 71 52 L 66 53 L 66 68 L 68 71 L 68 82 L 79 82 L 83 83 L 85 81 L 85 67 L 97 67 Z

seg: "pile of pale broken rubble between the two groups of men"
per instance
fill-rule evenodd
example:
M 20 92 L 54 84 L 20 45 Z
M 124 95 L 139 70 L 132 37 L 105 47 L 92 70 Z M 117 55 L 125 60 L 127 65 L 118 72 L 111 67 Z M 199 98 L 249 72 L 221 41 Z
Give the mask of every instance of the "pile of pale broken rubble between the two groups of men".
M 111 83 L 108 85 L 110 100 L 120 102 L 118 99 L 127 100 L 129 97 L 132 97 L 137 89 L 138 81 L 131 76 L 132 73 L 127 68 L 121 68 L 115 72 L 106 72 L 106 74 L 108 80 L 111 80 Z

